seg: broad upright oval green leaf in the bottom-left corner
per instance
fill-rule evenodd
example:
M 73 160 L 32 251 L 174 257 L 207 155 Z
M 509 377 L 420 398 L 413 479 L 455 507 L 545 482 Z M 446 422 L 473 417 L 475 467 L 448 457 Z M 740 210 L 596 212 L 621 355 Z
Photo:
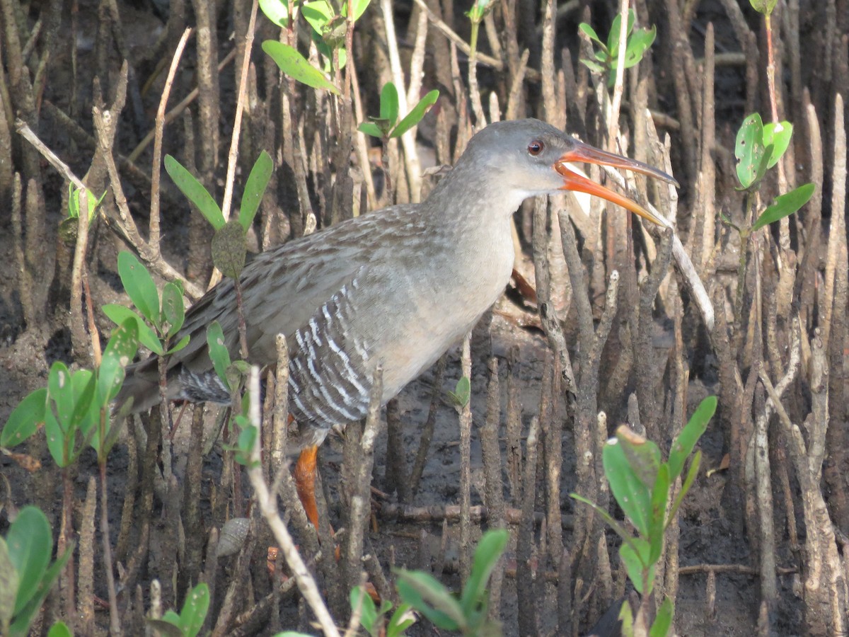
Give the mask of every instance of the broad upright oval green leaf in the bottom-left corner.
M 26 604 L 36 597 L 38 584 L 48 570 L 53 553 L 53 534 L 42 510 L 34 506 L 21 509 L 8 527 L 6 546 L 9 560 L 18 573 L 14 615 L 20 615 Z

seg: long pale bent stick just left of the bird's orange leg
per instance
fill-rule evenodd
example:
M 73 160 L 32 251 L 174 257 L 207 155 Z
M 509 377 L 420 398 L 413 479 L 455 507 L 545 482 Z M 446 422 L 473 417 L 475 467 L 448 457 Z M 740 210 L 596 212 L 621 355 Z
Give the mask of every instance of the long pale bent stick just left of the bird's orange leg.
M 257 430 L 260 430 L 260 375 L 259 368 L 256 366 L 250 368 L 248 387 L 250 391 L 250 422 Z M 260 506 L 262 517 L 267 521 L 268 526 L 271 527 L 274 538 L 277 539 L 281 550 L 283 550 L 286 563 L 295 575 L 298 588 L 301 589 L 301 594 L 304 595 L 306 603 L 309 604 L 312 612 L 315 613 L 324 634 L 331 635 L 332 637 L 340 637 L 339 630 L 336 629 L 333 617 L 330 617 L 327 606 L 324 605 L 315 580 L 312 578 L 310 572 L 306 570 L 306 564 L 301 559 L 301 555 L 295 547 L 295 542 L 292 540 L 289 530 L 286 528 L 283 520 L 280 519 L 277 509 L 277 499 L 268 490 L 268 486 L 262 478 L 260 438 L 260 436 L 256 437 L 254 447 L 251 449 L 250 464 L 247 471 L 250 483 L 253 485 L 254 492 L 256 493 L 256 502 Z

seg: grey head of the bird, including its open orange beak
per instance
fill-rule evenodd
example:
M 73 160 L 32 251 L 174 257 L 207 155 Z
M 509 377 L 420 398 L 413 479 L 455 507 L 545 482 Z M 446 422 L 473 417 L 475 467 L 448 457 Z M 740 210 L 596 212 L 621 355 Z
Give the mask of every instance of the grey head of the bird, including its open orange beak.
M 583 144 L 533 119 L 490 124 L 469 140 L 456 167 L 462 165 L 465 170 L 479 172 L 493 188 L 510 192 L 519 200 L 537 194 L 556 194 L 559 190 L 576 190 L 612 201 L 653 223 L 666 225 L 636 201 L 575 172 L 572 165 L 580 163 L 624 168 L 678 185 L 666 172 Z

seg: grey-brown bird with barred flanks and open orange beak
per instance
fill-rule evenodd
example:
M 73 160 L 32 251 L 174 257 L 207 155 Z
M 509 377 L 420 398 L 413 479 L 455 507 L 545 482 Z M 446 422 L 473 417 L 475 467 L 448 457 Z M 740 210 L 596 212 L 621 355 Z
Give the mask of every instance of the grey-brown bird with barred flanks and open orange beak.
M 316 452 L 332 426 L 363 419 L 372 379 L 382 369 L 381 403 L 434 364 L 501 296 L 514 264 L 510 219 L 527 198 L 573 190 L 593 194 L 652 223 L 661 218 L 578 174 L 580 163 L 615 166 L 667 183 L 665 172 L 583 144 L 535 119 L 481 128 L 453 168 L 418 204 L 388 206 L 290 240 L 256 256 L 241 283 L 249 362 L 276 363 L 275 337 L 290 351 L 289 405 L 304 431 L 291 451 L 302 501 L 314 481 Z M 167 360 L 167 397 L 229 403 L 213 369 L 206 328 L 222 326 L 239 351 L 233 280 L 188 309 Z M 132 410 L 160 401 L 155 355 L 127 368 L 119 402 Z M 304 477 L 306 476 L 306 477 Z M 318 513 L 304 502 L 317 524 Z

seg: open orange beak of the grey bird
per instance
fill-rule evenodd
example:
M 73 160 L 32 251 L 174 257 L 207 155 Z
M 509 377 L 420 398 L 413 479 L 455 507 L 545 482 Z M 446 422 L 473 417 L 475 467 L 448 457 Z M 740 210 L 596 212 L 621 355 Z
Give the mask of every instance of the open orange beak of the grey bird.
M 563 156 L 559 158 L 557 163 L 554 164 L 554 170 L 559 172 L 559 174 L 563 177 L 564 183 L 560 188 L 561 190 L 576 190 L 582 193 L 593 194 L 596 197 L 612 201 L 617 206 L 627 208 L 627 210 L 630 210 L 635 214 L 638 214 L 640 217 L 648 219 L 650 222 L 656 223 L 659 226 L 667 225 L 667 223 L 661 220 L 660 217 L 656 217 L 643 206 L 640 206 L 636 201 L 630 200 L 613 190 L 604 188 L 604 186 L 599 183 L 590 181 L 588 178 L 573 172 L 569 167 L 569 164 L 572 162 L 584 162 L 588 164 L 597 164 L 599 166 L 624 168 L 625 170 L 639 172 L 644 175 L 648 175 L 649 177 L 661 179 L 666 183 L 674 183 L 678 186 L 678 182 L 675 181 L 675 179 L 667 175 L 666 172 L 659 171 L 648 164 L 644 164 L 642 161 L 628 159 L 621 155 L 614 155 L 613 153 L 599 150 L 588 144 L 582 144 L 582 142 L 579 142 L 576 139 L 573 139 L 572 143 L 574 144 L 574 147 L 565 152 Z

